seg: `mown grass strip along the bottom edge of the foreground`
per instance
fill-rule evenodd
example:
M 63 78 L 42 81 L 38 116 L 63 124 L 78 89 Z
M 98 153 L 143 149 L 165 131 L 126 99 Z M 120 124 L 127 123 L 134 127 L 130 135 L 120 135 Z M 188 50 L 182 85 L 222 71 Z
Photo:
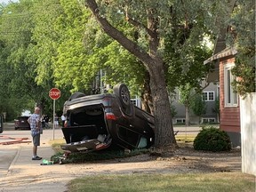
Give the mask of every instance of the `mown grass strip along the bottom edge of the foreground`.
M 255 178 L 240 172 L 91 175 L 71 180 L 68 192 L 255 192 Z

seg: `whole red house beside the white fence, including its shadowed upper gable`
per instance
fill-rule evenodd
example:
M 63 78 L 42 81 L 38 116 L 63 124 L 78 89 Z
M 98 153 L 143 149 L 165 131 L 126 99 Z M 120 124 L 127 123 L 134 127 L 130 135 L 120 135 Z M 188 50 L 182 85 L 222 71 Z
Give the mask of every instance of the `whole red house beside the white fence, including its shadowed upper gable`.
M 227 13 L 231 14 L 236 0 L 228 2 Z M 233 90 L 231 83 L 233 76 L 231 69 L 235 66 L 236 49 L 226 47 L 227 26 L 220 28 L 220 36 L 215 43 L 214 53 L 211 58 L 204 60 L 204 64 L 212 63 L 214 70 L 209 73 L 207 82 L 219 82 L 220 84 L 220 129 L 227 132 L 232 146 L 241 146 L 240 106 L 239 97 Z

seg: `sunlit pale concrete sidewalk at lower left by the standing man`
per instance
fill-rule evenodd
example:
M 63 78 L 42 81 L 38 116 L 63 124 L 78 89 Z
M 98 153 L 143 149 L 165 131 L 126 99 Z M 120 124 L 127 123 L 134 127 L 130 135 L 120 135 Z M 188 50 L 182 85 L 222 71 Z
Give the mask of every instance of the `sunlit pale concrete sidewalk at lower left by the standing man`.
M 58 132 L 61 135 L 60 131 Z M 56 138 L 61 138 L 60 135 Z M 1 146 L 1 148 L 4 148 L 4 150 L 10 148 L 10 151 L 16 150 L 16 156 L 12 160 L 8 172 L 4 177 L 0 177 L 1 192 L 27 190 L 33 192 L 64 192 L 67 190 L 66 184 L 68 181 L 74 179 L 69 174 L 65 164 L 41 165 L 43 159 L 50 160 L 51 156 L 54 155 L 49 139 L 45 138 L 44 134 L 42 135 L 41 146 L 38 147 L 38 156 L 42 156 L 42 160 L 32 161 L 31 142 Z

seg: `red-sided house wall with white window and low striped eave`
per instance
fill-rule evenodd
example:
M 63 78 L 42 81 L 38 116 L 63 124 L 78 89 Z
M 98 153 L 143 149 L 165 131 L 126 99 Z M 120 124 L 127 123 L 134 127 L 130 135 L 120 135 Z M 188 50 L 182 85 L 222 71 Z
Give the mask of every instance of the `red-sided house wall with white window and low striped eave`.
M 210 79 L 220 79 L 220 129 L 228 132 L 233 146 L 241 146 L 240 130 L 240 107 L 239 97 L 233 90 L 231 83 L 236 76 L 233 76 L 231 69 L 235 66 L 236 50 L 228 47 L 221 52 L 214 54 L 208 59 L 217 61 L 219 72 L 209 74 Z M 207 63 L 207 60 L 204 61 Z M 217 76 L 218 75 L 218 76 Z

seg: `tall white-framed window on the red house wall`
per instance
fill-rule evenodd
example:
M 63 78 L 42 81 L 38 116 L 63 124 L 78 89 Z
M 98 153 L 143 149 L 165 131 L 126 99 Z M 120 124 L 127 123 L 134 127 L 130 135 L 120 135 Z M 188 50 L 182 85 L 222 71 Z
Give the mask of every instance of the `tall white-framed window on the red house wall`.
M 224 98 L 225 107 L 236 107 L 237 106 L 237 93 L 234 91 L 231 83 L 234 81 L 236 76 L 233 76 L 231 69 L 233 65 L 227 65 L 224 68 Z

